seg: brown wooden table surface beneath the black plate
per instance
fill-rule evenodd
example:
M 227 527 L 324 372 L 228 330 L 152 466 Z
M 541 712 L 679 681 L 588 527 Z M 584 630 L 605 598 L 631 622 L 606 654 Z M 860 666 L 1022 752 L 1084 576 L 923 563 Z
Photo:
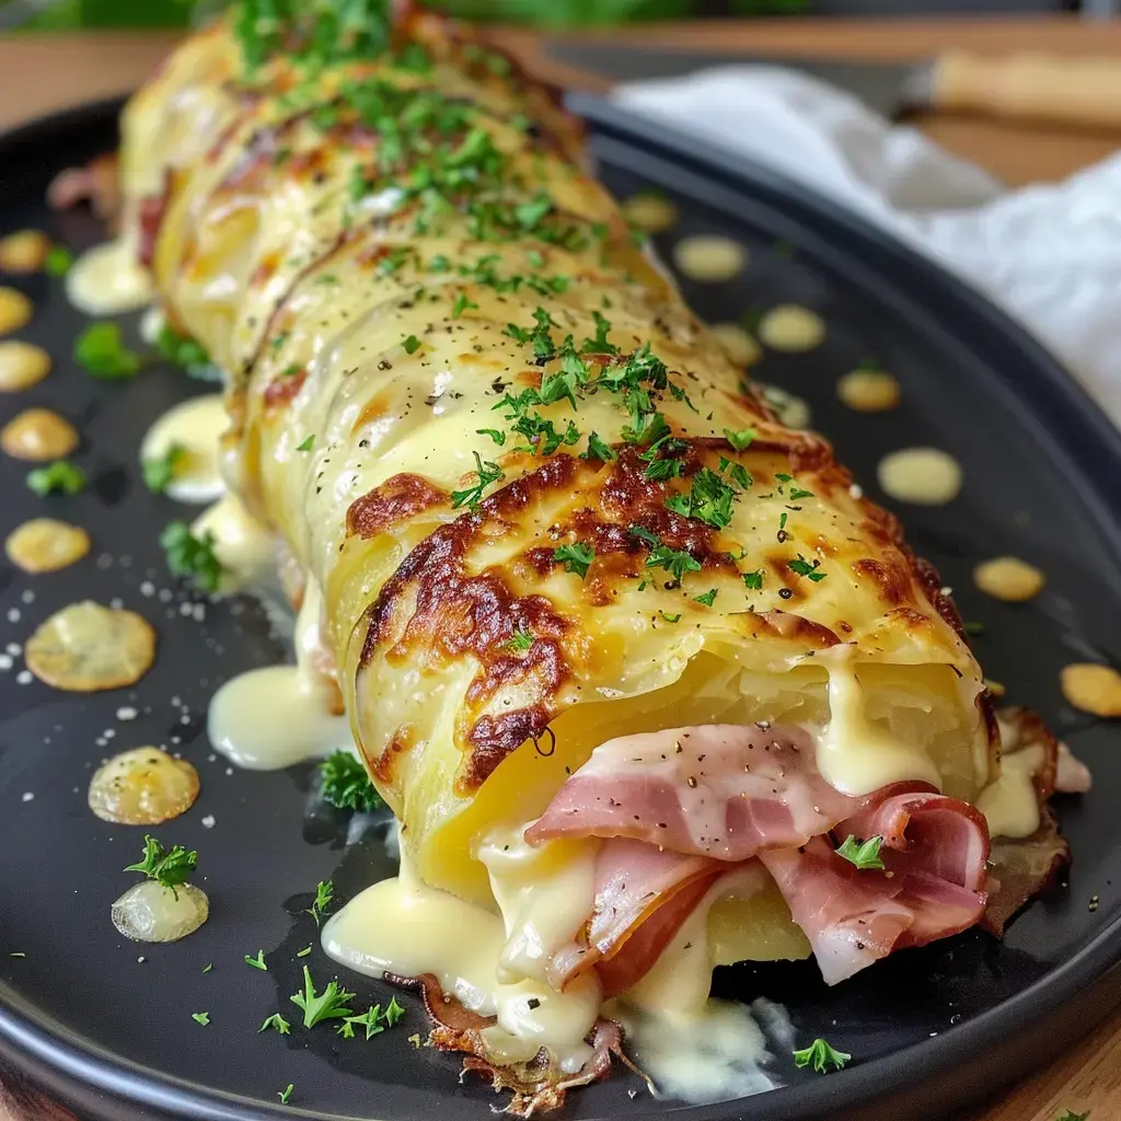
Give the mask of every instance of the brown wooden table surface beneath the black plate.
M 1088 24 L 1074 18 L 970 20 L 752 20 L 750 22 L 650 26 L 618 37 L 693 50 L 734 55 L 773 52 L 851 58 L 918 59 L 948 47 L 1001 53 L 1040 49 L 1071 55 L 1121 54 L 1121 22 Z M 495 38 L 541 77 L 562 85 L 603 90 L 606 83 L 548 59 L 537 36 L 510 30 Z M 132 89 L 173 38 L 166 34 L 0 36 L 0 129 L 74 102 Z M 1009 185 L 1058 179 L 1096 163 L 1121 137 L 1012 127 L 991 121 L 927 117 L 923 130 L 957 155 L 976 160 Z M 1056 1121 L 1065 1110 L 1091 1110 L 1091 1121 L 1121 1118 L 1121 1012 L 1049 1068 L 973 1111 L 962 1121 Z M 10 1084 L 0 1086 L 0 1121 L 46 1121 L 66 1117 Z M 904 1119 L 900 1119 L 904 1121 Z

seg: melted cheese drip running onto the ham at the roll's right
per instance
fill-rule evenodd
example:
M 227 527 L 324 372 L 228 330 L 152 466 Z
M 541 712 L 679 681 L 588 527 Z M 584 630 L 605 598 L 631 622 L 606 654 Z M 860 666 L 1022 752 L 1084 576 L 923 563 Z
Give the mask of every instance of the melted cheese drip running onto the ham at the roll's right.
M 925 751 L 864 714 L 854 654 L 853 646 L 835 647 L 816 659 L 830 674 L 830 722 L 817 738 L 817 769 L 830 785 L 858 797 L 908 779 L 941 789 L 942 776 Z

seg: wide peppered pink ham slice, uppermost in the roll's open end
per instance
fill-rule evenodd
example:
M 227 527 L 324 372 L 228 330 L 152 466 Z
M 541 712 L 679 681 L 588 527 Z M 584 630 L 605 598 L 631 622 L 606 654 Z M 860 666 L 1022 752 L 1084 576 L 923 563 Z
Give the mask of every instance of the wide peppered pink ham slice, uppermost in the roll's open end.
M 805 844 L 862 805 L 822 778 L 800 729 L 677 728 L 596 748 L 526 840 L 631 837 L 739 862 Z

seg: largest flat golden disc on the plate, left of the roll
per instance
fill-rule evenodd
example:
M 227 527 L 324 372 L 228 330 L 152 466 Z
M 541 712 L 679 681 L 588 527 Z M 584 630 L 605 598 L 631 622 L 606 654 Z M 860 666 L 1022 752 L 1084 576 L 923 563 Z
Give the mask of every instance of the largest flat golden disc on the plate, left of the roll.
M 28 639 L 27 668 L 67 693 L 133 685 L 156 658 L 156 632 L 132 611 L 85 600 L 53 614 Z

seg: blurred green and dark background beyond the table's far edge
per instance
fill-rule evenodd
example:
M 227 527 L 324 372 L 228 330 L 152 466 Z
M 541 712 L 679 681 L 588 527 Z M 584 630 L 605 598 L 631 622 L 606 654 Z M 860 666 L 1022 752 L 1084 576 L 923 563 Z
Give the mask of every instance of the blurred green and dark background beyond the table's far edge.
M 1112 15 L 1121 0 L 444 0 L 438 7 L 470 19 L 576 27 L 721 16 Z M 0 0 L 0 27 L 176 27 L 195 8 L 193 0 Z

